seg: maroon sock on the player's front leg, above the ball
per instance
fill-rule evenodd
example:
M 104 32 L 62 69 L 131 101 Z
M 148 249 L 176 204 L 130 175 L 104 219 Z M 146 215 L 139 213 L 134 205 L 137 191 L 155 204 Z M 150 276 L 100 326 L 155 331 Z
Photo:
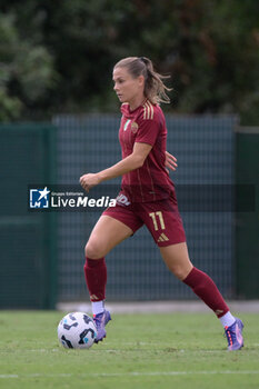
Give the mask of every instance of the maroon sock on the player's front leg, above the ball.
M 101 301 L 106 298 L 107 267 L 104 258 L 87 258 L 84 277 L 90 293 L 91 301 Z

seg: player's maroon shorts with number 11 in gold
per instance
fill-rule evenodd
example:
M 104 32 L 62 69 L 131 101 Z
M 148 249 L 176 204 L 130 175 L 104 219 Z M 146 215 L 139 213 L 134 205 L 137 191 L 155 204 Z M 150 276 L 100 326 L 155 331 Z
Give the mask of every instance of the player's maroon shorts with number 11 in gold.
M 117 202 L 116 207 L 109 207 L 102 215 L 121 221 L 133 233 L 146 225 L 159 247 L 186 241 L 186 233 L 175 197 L 151 202 L 135 202 L 129 206 Z

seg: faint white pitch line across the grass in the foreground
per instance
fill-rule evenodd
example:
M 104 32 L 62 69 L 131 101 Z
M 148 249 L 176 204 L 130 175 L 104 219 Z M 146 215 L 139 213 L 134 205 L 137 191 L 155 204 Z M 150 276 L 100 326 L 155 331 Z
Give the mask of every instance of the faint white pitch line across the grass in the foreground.
M 93 372 L 93 373 L 56 373 L 56 375 L 46 375 L 46 373 L 30 373 L 30 375 L 0 375 L 0 379 L 4 378 L 70 378 L 70 377 L 141 377 L 141 376 L 197 376 L 197 375 L 259 375 L 259 370 L 205 370 L 205 371 L 131 371 L 131 372 Z

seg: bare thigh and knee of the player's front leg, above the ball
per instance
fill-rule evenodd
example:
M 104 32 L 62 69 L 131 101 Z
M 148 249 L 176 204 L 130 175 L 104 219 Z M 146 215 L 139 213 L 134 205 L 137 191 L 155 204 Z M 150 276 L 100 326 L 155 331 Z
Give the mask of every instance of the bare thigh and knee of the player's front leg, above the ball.
M 123 222 L 103 215 L 96 223 L 87 242 L 86 257 L 91 259 L 102 258 L 132 233 L 131 228 Z

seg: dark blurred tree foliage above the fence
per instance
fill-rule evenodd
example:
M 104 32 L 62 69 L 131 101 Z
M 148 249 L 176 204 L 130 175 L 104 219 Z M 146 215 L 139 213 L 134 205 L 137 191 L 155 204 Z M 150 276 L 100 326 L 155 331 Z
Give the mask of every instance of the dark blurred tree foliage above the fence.
M 129 56 L 171 76 L 169 111 L 259 123 L 256 0 L 1 0 L 0 120 L 116 111 Z

